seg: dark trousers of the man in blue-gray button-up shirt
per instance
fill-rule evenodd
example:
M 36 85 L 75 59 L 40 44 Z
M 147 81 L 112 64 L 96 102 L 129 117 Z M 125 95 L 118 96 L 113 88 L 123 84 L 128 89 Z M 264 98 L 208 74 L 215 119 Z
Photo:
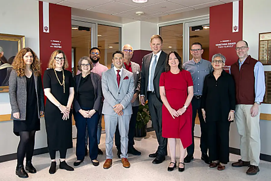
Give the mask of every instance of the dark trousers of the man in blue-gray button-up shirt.
M 193 155 L 195 151 L 195 143 L 194 143 L 194 127 L 195 127 L 195 119 L 198 112 L 198 118 L 200 120 L 201 126 L 201 153 L 206 153 L 208 151 L 208 128 L 206 122 L 204 122 L 202 111 L 201 111 L 201 98 L 197 99 L 195 96 L 192 98 L 192 144 L 187 147 L 187 154 Z

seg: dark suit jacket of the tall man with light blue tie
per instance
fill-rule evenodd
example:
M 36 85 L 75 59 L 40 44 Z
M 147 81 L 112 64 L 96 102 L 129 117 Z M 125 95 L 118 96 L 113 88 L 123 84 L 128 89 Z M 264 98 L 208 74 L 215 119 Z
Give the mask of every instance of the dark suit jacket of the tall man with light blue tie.
M 150 69 L 152 55 L 153 53 L 151 52 L 143 57 L 142 68 L 141 68 L 140 94 L 145 96 L 145 101 L 148 99 L 147 89 L 148 89 L 149 69 Z M 154 79 L 153 79 L 154 93 L 157 99 L 160 100 L 160 102 L 162 102 L 162 100 L 160 97 L 159 82 L 160 82 L 161 74 L 165 71 L 166 59 L 167 59 L 167 53 L 165 53 L 162 50 L 155 67 Z

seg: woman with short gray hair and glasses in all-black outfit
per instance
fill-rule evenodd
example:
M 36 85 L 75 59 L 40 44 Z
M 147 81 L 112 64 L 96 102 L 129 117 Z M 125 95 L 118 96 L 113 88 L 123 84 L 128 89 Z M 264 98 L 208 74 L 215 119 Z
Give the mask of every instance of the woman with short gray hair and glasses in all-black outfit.
M 226 58 L 218 53 L 212 57 L 213 72 L 206 75 L 201 98 L 202 114 L 208 127 L 210 168 L 224 170 L 229 162 L 229 127 L 234 118 L 235 84 L 223 70 Z

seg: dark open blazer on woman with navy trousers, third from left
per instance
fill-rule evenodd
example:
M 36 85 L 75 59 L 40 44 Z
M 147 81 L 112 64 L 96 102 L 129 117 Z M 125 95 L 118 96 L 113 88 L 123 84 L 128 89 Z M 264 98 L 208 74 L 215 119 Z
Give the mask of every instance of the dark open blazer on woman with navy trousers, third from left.
M 81 106 L 78 103 L 78 87 L 80 84 L 80 80 L 82 77 L 82 73 L 73 77 L 76 86 L 74 87 L 74 98 L 73 98 L 73 108 L 75 112 L 78 112 L 81 109 Z M 102 99 L 102 90 L 101 90 L 101 77 L 98 74 L 90 72 L 91 81 L 94 87 L 94 96 L 95 102 L 93 109 L 98 110 L 98 113 L 101 114 L 101 99 Z

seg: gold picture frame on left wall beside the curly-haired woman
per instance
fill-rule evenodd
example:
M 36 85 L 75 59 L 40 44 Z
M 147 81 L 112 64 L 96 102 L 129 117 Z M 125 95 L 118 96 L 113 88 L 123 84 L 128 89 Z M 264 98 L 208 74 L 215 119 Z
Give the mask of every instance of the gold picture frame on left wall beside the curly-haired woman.
M 8 57 L 6 57 L 5 59 L 9 59 L 12 56 L 16 56 L 17 52 L 19 52 L 22 48 L 25 47 L 25 36 L 0 33 L 0 46 L 2 47 L 3 52 L 4 52 L 3 56 L 5 57 L 5 55 L 8 55 Z M 9 75 L 6 75 L 6 76 L 9 76 Z M 7 79 L 7 77 L 5 79 Z M 1 83 L 0 92 L 8 92 L 8 86 L 2 86 L 2 83 Z

